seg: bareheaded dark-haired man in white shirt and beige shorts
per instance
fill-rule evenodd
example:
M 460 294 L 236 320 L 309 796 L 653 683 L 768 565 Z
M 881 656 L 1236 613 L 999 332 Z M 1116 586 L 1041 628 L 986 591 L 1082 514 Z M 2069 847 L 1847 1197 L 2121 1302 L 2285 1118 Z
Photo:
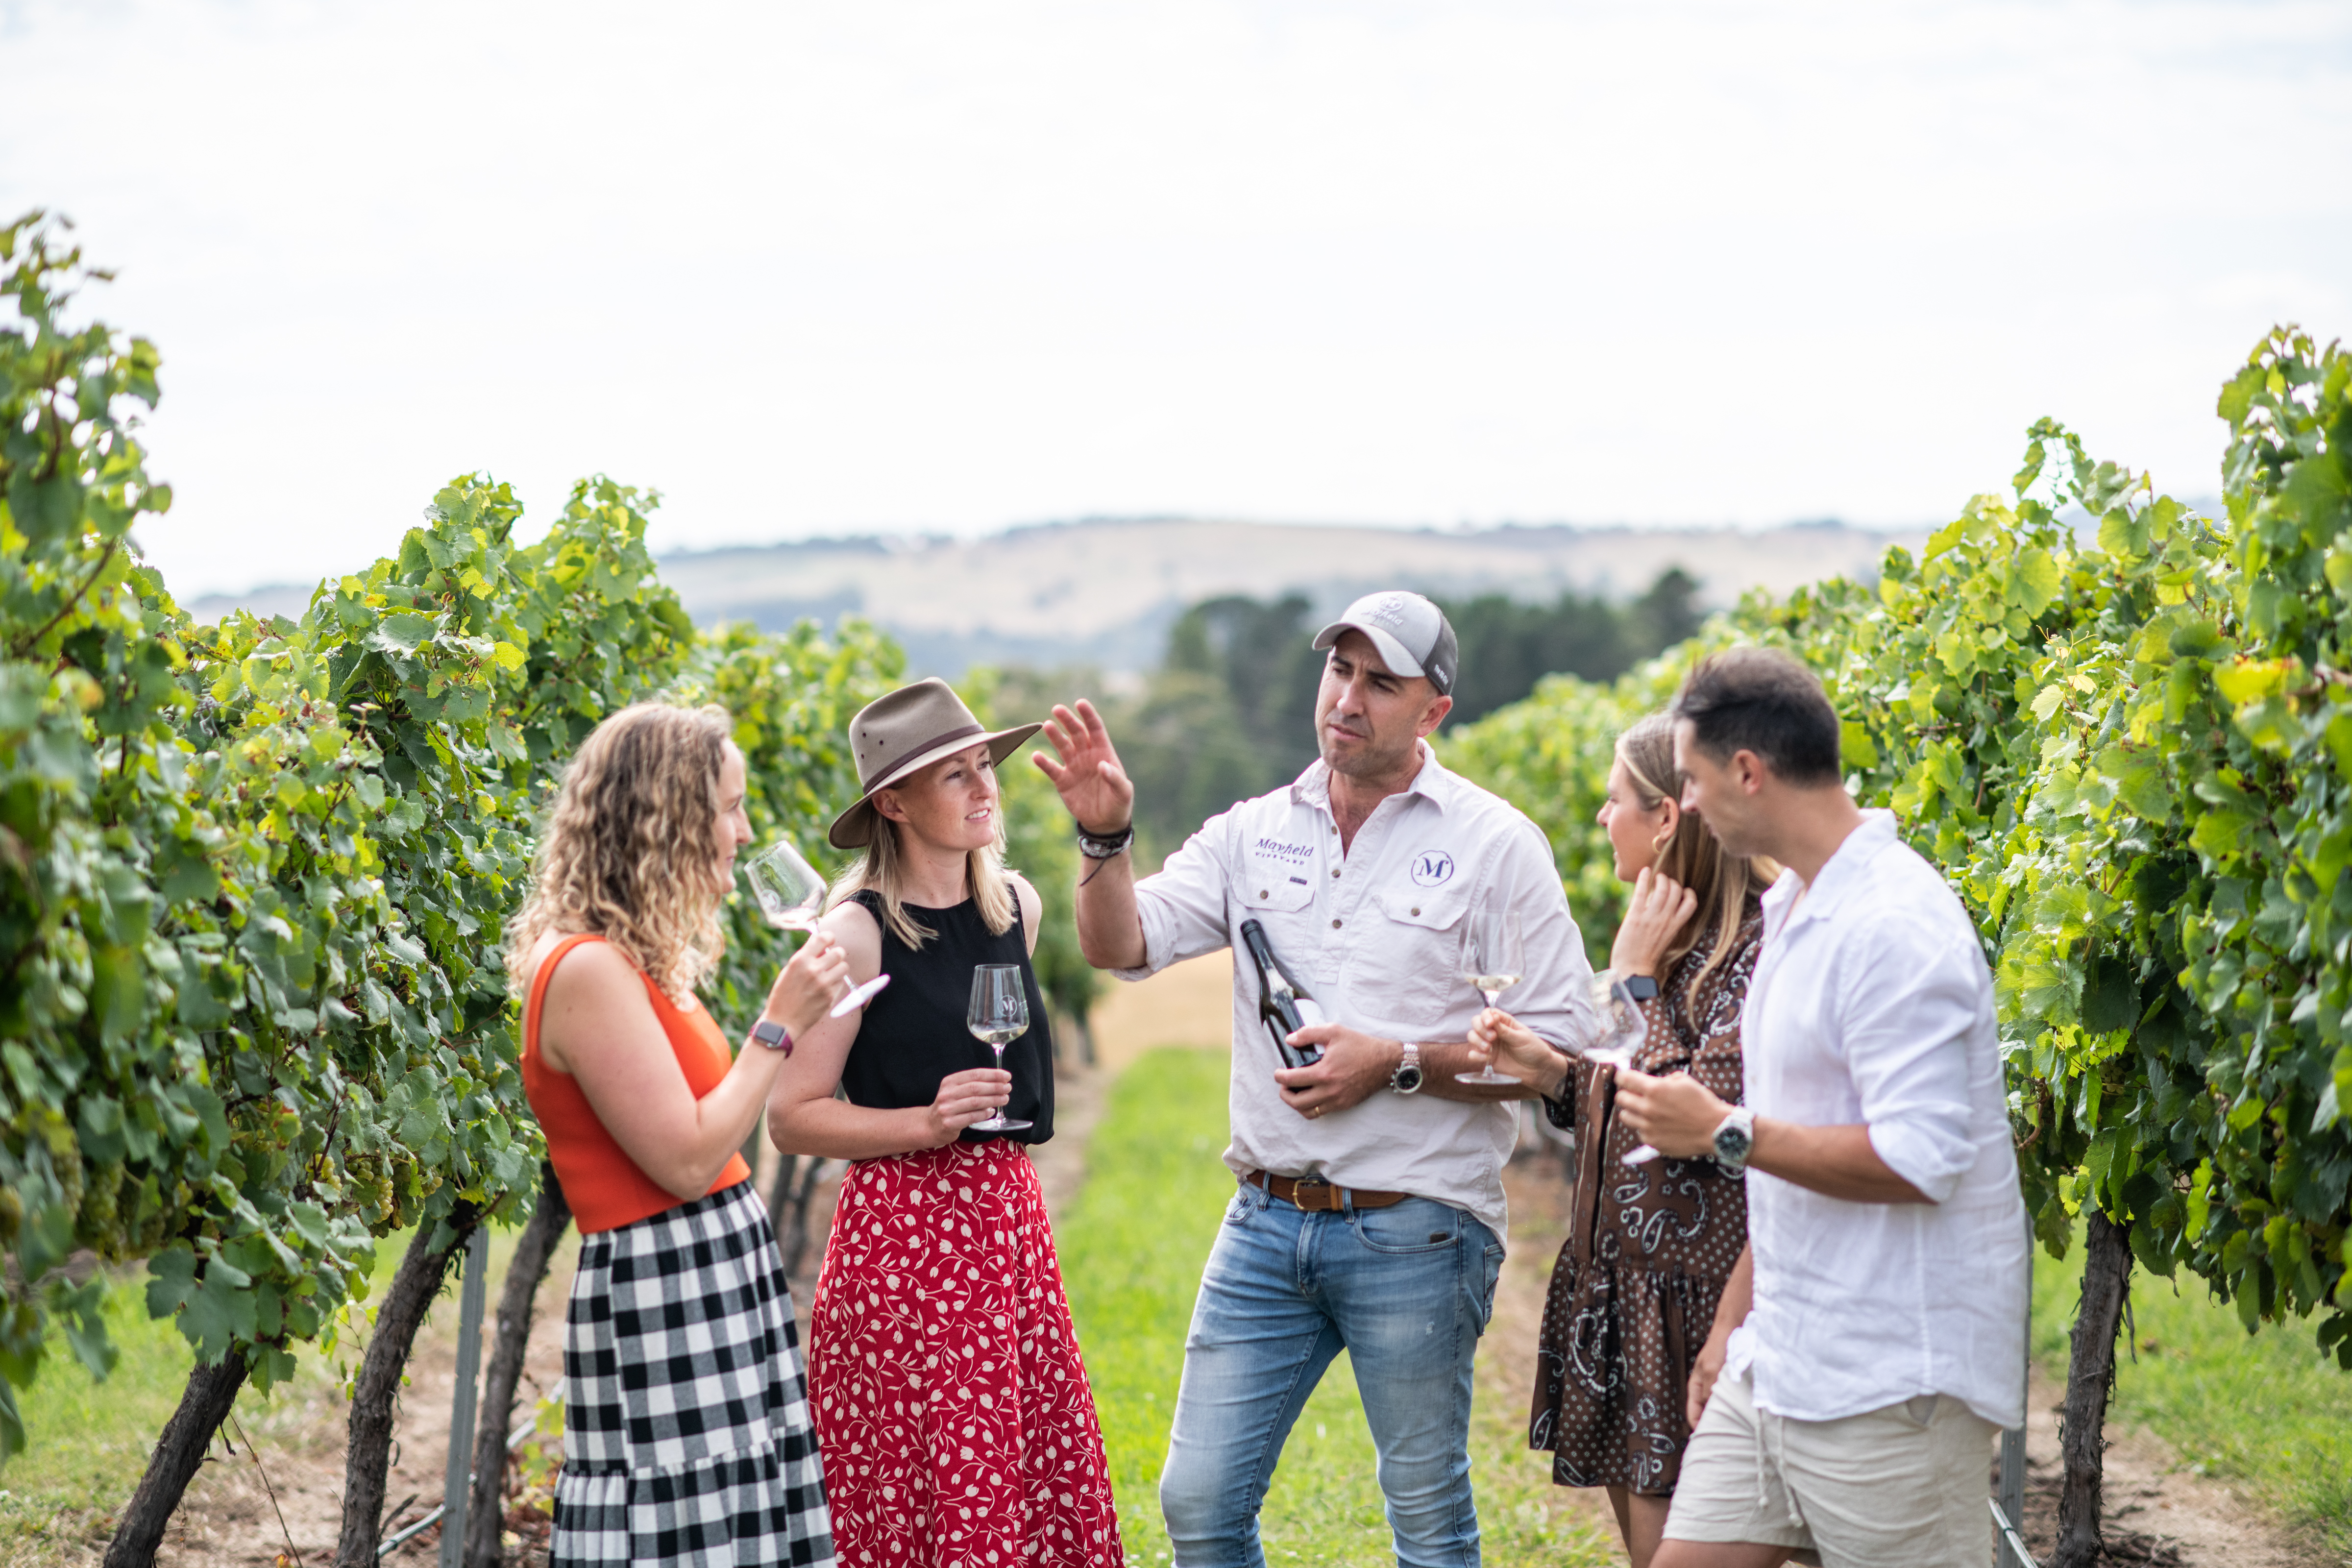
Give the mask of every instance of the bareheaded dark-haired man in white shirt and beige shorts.
M 1717 654 L 1675 719 L 1684 809 L 1788 875 L 1740 1009 L 1748 1105 L 1618 1072 L 1649 1143 L 1748 1164 L 1748 1251 L 1691 1375 L 1653 1568 L 1983 1568 L 2027 1293 L 1985 950 L 1893 813 L 1842 788 L 1837 712 L 1802 663 Z

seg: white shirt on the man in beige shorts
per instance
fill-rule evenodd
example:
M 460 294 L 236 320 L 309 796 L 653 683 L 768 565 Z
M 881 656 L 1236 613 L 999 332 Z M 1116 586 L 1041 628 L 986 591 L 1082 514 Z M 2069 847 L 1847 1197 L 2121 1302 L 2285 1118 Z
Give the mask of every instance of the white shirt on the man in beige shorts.
M 2025 1199 L 2011 1147 L 1992 976 L 1959 898 L 1865 811 L 1799 900 L 1764 893 L 1740 1009 L 1748 1105 L 1802 1126 L 1867 1124 L 1931 1201 L 1851 1204 L 1748 1173 L 1755 1307 L 1726 1375 L 1757 1406 L 1837 1420 L 1950 1394 L 2025 1422 Z M 1795 905 L 1795 907 L 1792 907 Z

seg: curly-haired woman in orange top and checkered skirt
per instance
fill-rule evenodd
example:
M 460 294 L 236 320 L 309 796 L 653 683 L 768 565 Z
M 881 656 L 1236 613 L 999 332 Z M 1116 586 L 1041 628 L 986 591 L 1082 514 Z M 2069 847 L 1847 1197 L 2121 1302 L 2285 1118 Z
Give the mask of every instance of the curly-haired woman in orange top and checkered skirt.
M 809 938 L 741 1053 L 694 999 L 743 785 L 722 708 L 607 717 L 508 933 L 522 1086 L 581 1227 L 555 1563 L 835 1561 L 783 1258 L 736 1150 L 847 961 Z

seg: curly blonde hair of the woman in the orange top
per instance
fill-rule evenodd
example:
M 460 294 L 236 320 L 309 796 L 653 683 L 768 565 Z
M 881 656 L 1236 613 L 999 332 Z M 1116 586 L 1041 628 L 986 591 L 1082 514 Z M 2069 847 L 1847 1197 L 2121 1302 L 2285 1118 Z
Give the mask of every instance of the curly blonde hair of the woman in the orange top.
M 684 1004 L 717 966 L 720 769 L 724 708 L 635 703 L 597 724 L 564 769 L 532 863 L 532 891 L 506 933 L 506 978 L 548 931 L 602 936 Z

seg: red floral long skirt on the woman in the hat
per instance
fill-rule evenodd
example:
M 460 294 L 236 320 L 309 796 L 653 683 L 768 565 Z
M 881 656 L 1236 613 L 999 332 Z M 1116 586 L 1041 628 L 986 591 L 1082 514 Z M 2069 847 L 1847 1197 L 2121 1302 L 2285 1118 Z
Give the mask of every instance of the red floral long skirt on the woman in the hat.
M 809 1403 L 844 1566 L 1124 1561 L 1021 1145 L 849 1166 L 809 1307 Z

